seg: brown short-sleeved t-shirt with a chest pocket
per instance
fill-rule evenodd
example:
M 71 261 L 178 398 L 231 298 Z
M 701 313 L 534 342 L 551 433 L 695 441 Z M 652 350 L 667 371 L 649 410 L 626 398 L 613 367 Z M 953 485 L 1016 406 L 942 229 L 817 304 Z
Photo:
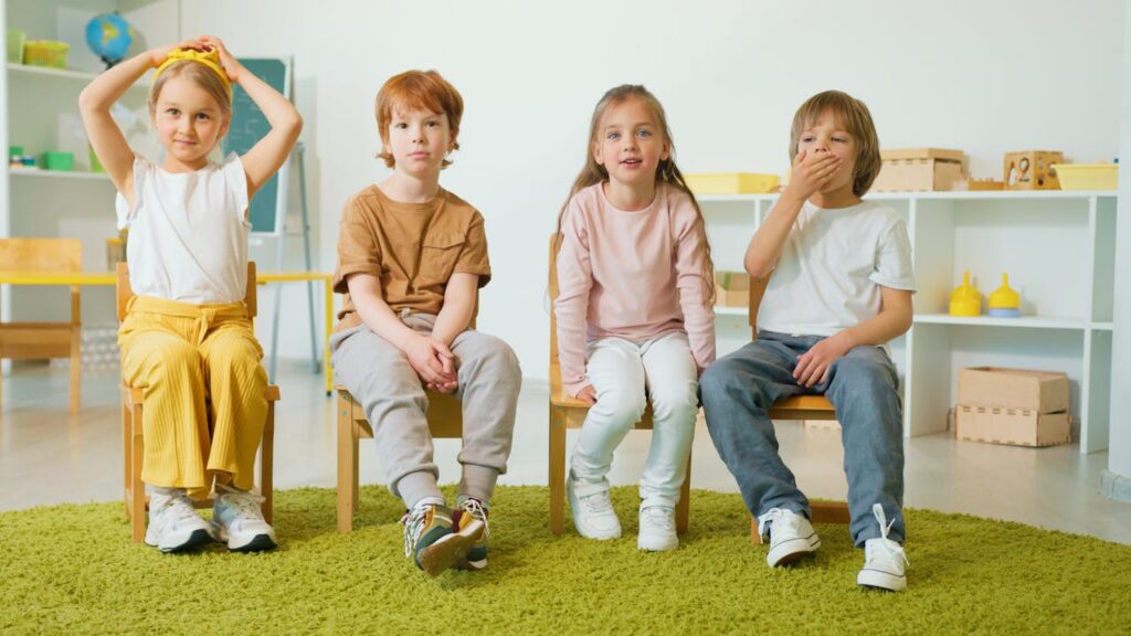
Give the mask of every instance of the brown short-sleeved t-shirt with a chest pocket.
M 370 186 L 342 212 L 334 291 L 346 299 L 337 330 L 361 324 L 346 286 L 351 274 L 380 278 L 394 311 L 439 313 L 448 280 L 460 272 L 478 275 L 481 287 L 491 280 L 483 216 L 474 207 L 442 188 L 431 201 L 411 204 Z

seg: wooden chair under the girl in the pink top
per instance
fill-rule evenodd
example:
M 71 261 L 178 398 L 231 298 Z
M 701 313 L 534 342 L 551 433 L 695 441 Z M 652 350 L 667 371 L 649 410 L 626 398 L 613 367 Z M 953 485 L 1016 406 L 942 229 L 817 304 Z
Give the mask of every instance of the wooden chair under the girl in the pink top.
M 558 321 L 553 302 L 558 298 L 558 235 L 550 238 L 550 532 L 561 534 L 566 519 L 566 429 L 579 429 L 589 406 L 569 395 L 562 387 L 562 370 L 558 361 Z M 645 407 L 633 430 L 651 430 L 651 404 Z M 675 505 L 675 531 L 688 532 L 691 501 L 691 457 L 687 478 Z

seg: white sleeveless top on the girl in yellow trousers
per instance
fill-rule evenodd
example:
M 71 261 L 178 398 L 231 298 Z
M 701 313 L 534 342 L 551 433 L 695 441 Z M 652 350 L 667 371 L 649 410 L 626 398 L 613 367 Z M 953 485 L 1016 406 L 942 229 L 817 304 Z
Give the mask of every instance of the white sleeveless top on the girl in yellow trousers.
M 126 259 L 138 295 L 193 304 L 238 302 L 248 283 L 248 178 L 232 153 L 222 164 L 173 173 L 138 155 L 133 207 L 115 201 L 130 231 Z

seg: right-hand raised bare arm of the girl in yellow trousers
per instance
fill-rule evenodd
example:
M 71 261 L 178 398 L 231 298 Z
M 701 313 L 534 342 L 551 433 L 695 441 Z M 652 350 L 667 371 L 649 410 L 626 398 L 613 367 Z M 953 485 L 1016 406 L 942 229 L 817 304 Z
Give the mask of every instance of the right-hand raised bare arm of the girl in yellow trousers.
M 218 37 L 201 38 L 219 53 L 219 61 L 233 83 L 248 92 L 251 101 L 264 111 L 271 130 L 244 154 L 243 172 L 248 175 L 248 198 L 251 198 L 283 165 L 302 131 L 302 115 L 290 100 L 240 63 Z

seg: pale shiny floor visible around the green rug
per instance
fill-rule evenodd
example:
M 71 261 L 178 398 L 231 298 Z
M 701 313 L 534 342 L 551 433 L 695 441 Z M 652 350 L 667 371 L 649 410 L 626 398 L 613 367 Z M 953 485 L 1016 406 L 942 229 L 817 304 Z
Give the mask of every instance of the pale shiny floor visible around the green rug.
M 283 393 L 275 433 L 276 488 L 333 487 L 336 475 L 334 401 L 321 377 L 280 364 Z M 506 484 L 545 484 L 546 389 L 527 383 Z M 83 409 L 67 413 L 64 370 L 20 366 L 3 379 L 0 411 L 0 510 L 121 497 L 121 423 L 113 373 L 87 375 Z M 573 435 L 573 431 L 570 432 Z M 782 453 L 811 497 L 845 495 L 839 435 L 778 426 Z M 611 479 L 633 483 L 648 449 L 645 432 L 630 433 L 618 452 Z M 572 437 L 569 440 L 572 446 Z M 438 440 L 441 481 L 458 480 L 458 441 Z M 940 433 L 906 445 L 908 507 L 1022 522 L 1131 544 L 1131 504 L 1099 495 L 1106 453 L 1081 456 L 1077 446 L 1017 448 L 958 441 Z M 363 483 L 382 481 L 372 441 L 361 449 Z M 696 432 L 691 487 L 736 491 L 710 438 Z M 693 523 L 693 519 L 692 519 Z M 914 527 L 909 528 L 914 541 Z

